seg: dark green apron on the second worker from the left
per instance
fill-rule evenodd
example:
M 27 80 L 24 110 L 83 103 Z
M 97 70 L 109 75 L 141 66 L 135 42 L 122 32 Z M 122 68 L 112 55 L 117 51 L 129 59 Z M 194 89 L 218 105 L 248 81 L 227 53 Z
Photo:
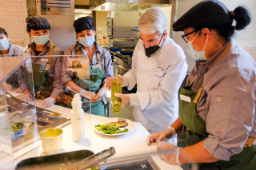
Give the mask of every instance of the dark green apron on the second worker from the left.
M 53 46 L 53 43 L 50 42 L 49 56 L 52 55 Z M 30 54 L 31 53 L 32 49 L 30 49 Z M 24 78 L 27 82 L 26 85 L 28 86 L 30 92 L 33 92 L 34 88 L 34 93 L 40 91 L 45 98 L 50 97 L 50 93 L 54 89 L 54 77 L 49 76 L 51 61 L 52 57 L 48 57 L 48 62 L 46 65 L 32 63 L 34 83 L 32 83 L 32 74 L 26 69 L 26 67 L 24 68 Z

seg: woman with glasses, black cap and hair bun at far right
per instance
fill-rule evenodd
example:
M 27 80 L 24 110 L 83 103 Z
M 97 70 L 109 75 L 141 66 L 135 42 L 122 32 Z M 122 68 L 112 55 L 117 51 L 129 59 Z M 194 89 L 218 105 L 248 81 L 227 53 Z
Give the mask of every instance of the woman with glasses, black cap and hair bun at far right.
M 170 125 L 185 131 L 186 148 L 161 141 L 174 133 L 168 129 L 146 139 L 158 143 L 162 160 L 207 170 L 256 168 L 256 62 L 234 41 L 234 30 L 249 24 L 245 7 L 230 11 L 217 0 L 198 3 L 174 23 L 196 65 Z

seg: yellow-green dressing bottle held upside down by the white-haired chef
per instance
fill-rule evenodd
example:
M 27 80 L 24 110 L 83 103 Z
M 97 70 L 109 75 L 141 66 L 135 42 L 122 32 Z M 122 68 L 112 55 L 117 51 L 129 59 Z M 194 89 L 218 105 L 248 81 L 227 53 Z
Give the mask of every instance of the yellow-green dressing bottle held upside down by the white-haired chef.
M 122 99 L 120 97 L 115 97 L 114 96 L 115 93 L 122 94 L 122 82 L 119 79 L 114 79 L 114 81 L 112 81 L 112 91 L 111 91 L 111 101 L 112 101 L 114 113 L 118 114 L 120 113 Z

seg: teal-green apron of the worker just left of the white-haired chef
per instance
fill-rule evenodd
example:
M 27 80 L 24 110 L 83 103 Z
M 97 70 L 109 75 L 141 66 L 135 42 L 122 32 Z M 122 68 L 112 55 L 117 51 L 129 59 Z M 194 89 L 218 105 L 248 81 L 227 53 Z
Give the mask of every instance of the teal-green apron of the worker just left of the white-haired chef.
M 81 54 L 81 49 L 79 49 L 76 54 L 77 55 Z M 88 91 L 88 89 L 90 88 L 90 91 L 94 92 L 95 94 L 97 94 L 98 90 L 101 89 L 102 80 L 105 76 L 105 70 L 103 69 L 103 65 L 101 63 L 100 53 L 97 52 L 96 55 L 97 55 L 97 61 L 98 61 L 98 68 L 93 69 L 95 65 L 90 65 L 90 81 L 87 79 L 82 79 L 82 78 L 80 79 L 79 77 L 76 76 L 77 75 L 76 72 L 73 73 L 73 79 L 72 79 L 82 89 L 85 89 Z M 78 65 L 77 68 L 82 68 L 82 65 Z M 88 87 L 88 85 L 90 85 L 90 87 Z M 86 113 L 89 111 L 90 105 L 91 105 L 90 113 L 105 117 L 106 115 L 105 105 L 102 99 L 97 103 L 91 103 L 91 104 L 89 100 L 87 99 L 85 100 L 86 100 L 86 103 L 83 103 L 82 109 L 84 109 Z

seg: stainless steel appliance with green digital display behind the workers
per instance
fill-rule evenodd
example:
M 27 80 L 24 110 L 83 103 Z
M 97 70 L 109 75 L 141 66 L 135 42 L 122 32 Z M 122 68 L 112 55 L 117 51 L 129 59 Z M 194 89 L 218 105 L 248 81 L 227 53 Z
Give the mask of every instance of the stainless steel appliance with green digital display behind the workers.
M 35 3 L 30 2 L 30 4 Z M 46 18 L 50 24 L 50 40 L 64 51 L 76 43 L 74 32 L 74 0 L 36 1 L 36 9 L 28 5 L 28 10 L 36 10 L 37 16 Z

